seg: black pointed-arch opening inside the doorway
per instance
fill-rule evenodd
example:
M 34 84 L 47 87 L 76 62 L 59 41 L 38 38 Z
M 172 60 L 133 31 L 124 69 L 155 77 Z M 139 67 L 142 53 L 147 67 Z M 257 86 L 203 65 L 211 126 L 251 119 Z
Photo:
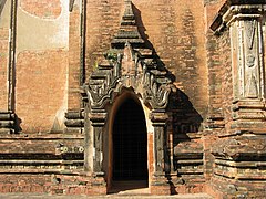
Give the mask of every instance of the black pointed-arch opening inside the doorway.
M 113 125 L 113 180 L 147 182 L 147 134 L 142 106 L 126 100 Z

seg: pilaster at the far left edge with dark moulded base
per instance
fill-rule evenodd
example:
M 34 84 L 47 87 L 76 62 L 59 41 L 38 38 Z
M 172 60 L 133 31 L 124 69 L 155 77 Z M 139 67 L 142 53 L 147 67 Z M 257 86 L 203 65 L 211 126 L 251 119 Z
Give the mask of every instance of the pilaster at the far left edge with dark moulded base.
M 2 54 L 8 54 L 1 57 L 0 61 L 0 134 L 12 134 L 18 132 L 14 126 L 14 65 L 16 65 L 16 31 L 17 31 L 17 0 L 7 1 L 4 9 L 10 9 L 10 19 L 3 23 L 3 28 L 0 30 L 2 36 L 3 51 Z M 8 27 L 9 25 L 9 27 Z M 9 30 L 9 33 L 8 33 Z M 7 66 L 8 65 L 8 66 Z M 6 70 L 8 69 L 8 70 Z M 8 81 L 7 81 L 8 80 Z

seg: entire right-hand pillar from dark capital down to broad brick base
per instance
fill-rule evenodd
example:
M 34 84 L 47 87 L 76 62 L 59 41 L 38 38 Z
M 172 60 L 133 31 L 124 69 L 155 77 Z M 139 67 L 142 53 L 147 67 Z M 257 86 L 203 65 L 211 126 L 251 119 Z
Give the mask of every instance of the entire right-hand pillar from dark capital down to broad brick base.
M 221 35 L 219 42 L 226 36 L 231 41 L 231 51 L 225 52 L 231 55 L 231 64 L 224 64 L 233 80 L 227 86 L 233 88 L 232 96 L 225 96 L 233 98 L 232 108 L 225 107 L 231 115 L 227 114 L 225 130 L 215 137 L 211 150 L 214 157 L 212 187 L 228 198 L 265 195 L 266 175 L 260 169 L 266 148 L 265 3 L 265 0 L 227 0 L 211 27 Z

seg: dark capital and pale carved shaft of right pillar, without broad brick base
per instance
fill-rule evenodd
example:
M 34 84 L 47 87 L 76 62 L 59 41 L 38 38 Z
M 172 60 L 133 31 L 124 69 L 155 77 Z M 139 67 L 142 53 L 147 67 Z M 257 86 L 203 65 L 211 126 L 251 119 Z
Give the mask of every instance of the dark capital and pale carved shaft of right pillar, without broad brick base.
M 234 82 L 232 116 L 235 122 L 239 122 L 232 127 L 242 126 L 237 128 L 243 132 L 248 129 L 244 128 L 247 123 L 254 132 L 258 126 L 254 122 L 263 124 L 266 119 L 263 43 L 265 3 L 265 0 L 227 0 L 211 25 L 216 34 L 229 31 Z

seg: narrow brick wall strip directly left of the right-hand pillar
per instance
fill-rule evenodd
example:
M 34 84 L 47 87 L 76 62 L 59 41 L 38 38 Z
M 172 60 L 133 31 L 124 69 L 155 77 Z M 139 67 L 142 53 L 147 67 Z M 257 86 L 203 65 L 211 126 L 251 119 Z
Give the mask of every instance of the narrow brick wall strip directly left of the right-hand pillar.
M 215 196 L 221 197 L 219 192 L 214 191 L 208 187 L 209 180 L 213 177 L 214 169 L 214 156 L 212 155 L 212 147 L 215 142 L 218 139 L 217 135 L 223 134 L 224 132 L 224 106 L 227 104 L 227 98 L 224 97 L 224 94 L 232 91 L 229 88 L 229 83 L 227 83 L 229 76 L 228 55 L 231 49 L 228 49 L 229 43 L 227 44 L 228 34 L 225 34 L 223 39 L 214 35 L 214 32 L 209 30 L 209 27 L 223 4 L 223 0 L 205 0 L 205 33 L 206 33 L 206 61 L 208 67 L 208 117 L 206 123 L 206 129 L 204 133 L 203 147 L 204 147 L 204 177 L 207 181 L 205 186 L 205 191 Z M 223 59 L 226 59 L 224 62 Z M 227 64 L 227 65 L 226 65 Z M 226 74 L 226 78 L 224 75 Z M 228 91 L 227 91 L 228 90 Z M 226 97 L 228 97 L 226 95 Z M 227 108 L 227 107 L 226 107 Z

